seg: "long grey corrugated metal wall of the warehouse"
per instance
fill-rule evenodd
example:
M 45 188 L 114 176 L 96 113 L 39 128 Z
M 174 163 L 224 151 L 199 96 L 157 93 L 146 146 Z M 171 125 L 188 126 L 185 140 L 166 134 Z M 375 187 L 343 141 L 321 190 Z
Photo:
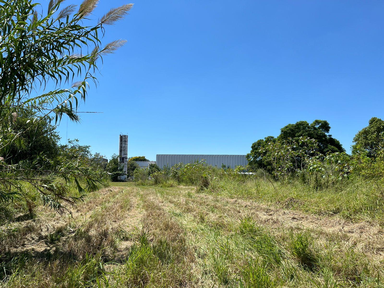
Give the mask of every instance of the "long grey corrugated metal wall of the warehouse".
M 221 167 L 222 164 L 225 166 L 231 166 L 235 168 L 236 166 L 247 166 L 248 161 L 245 158 L 245 155 L 176 155 L 176 154 L 157 154 L 156 155 L 156 164 L 161 169 L 164 166 L 173 166 L 180 162 L 184 164 L 195 162 L 196 160 L 200 161 L 205 159 L 208 165 Z

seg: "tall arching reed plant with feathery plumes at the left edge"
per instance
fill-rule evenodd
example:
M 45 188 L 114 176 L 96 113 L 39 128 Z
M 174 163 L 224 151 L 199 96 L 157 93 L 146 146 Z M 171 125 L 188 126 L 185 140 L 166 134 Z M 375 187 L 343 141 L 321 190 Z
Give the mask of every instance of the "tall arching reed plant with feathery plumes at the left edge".
M 79 7 L 68 5 L 60 10 L 63 0 L 50 0 L 47 14 L 32 0 L 0 1 L 0 156 L 4 159 L 16 147 L 27 143 L 23 134 L 30 125 L 17 129 L 18 115 L 32 109 L 40 124 L 53 116 L 55 124 L 63 115 L 79 121 L 79 101 L 86 99 L 88 82 L 97 84 L 94 76 L 98 60 L 114 53 L 125 41 L 101 45 L 106 25 L 123 18 L 132 4 L 113 8 L 95 24 L 92 15 L 98 0 L 84 0 Z M 74 78 L 79 81 L 74 81 Z M 55 86 L 50 90 L 47 87 Z M 42 94 L 36 94 L 42 91 Z M 28 121 L 27 121 L 28 122 Z M 29 123 L 29 122 L 28 122 Z M 27 123 L 26 123 L 27 124 Z M 88 190 L 98 189 L 104 172 L 82 161 L 65 157 L 51 159 L 49 154 L 18 163 L 0 162 L 0 201 L 23 198 L 35 190 L 45 205 L 62 213 L 74 205 Z M 78 195 L 73 195 L 73 185 Z M 26 188 L 28 187 L 28 188 Z

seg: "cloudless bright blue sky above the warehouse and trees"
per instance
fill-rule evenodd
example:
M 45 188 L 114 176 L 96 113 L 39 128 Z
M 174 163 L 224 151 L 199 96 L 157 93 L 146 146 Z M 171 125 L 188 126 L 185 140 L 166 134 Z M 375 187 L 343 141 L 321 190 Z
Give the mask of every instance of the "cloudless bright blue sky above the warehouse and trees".
M 69 0 L 67 2 L 70 2 Z M 94 18 L 122 0 L 101 0 Z M 383 1 L 137 0 L 68 138 L 106 157 L 246 154 L 300 120 L 328 120 L 349 151 L 384 118 Z M 60 124 L 65 142 L 66 119 Z

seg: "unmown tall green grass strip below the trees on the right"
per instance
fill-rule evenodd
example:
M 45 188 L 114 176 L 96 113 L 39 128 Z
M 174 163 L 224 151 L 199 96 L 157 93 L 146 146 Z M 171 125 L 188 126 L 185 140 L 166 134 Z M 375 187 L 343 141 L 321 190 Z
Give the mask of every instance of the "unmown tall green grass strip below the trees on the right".
M 237 199 L 252 199 L 283 209 L 384 224 L 384 197 L 373 185 L 361 179 L 349 180 L 340 192 L 336 188 L 315 190 L 299 180 L 273 185 L 260 177 L 241 181 L 232 177 L 213 180 L 207 192 Z

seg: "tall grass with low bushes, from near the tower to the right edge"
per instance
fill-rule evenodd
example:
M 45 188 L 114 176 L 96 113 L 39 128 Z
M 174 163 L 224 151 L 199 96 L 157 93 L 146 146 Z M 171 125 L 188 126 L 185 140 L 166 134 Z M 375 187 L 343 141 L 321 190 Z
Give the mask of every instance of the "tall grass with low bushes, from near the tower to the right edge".
M 240 167 L 242 168 L 242 167 Z M 339 215 L 354 221 L 384 224 L 384 195 L 377 185 L 358 175 L 344 179 L 343 185 L 308 185 L 300 177 L 275 181 L 266 172 L 242 174 L 241 169 L 218 169 L 204 162 L 177 164 L 142 179 L 139 185 L 175 187 L 193 185 L 198 191 L 235 199 L 254 200 L 283 209 L 319 215 Z M 327 187 L 328 186 L 328 187 Z

